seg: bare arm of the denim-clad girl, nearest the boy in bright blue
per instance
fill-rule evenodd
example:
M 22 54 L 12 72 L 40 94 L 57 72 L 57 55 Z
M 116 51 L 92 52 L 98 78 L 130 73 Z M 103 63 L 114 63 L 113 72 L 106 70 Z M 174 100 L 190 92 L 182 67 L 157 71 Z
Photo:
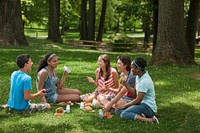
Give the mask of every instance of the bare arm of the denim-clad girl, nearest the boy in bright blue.
M 44 88 L 44 82 L 47 78 L 48 73 L 45 70 L 42 70 L 41 73 L 38 74 L 38 91 L 42 90 Z M 42 97 L 43 102 L 47 102 L 46 98 Z

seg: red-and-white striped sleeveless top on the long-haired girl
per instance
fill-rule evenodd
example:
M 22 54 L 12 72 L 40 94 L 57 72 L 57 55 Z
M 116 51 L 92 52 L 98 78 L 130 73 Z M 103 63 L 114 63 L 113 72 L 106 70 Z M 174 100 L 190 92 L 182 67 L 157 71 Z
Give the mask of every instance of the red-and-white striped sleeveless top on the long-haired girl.
M 100 72 L 100 68 L 97 68 L 96 70 L 96 74 L 99 75 L 99 72 Z M 98 87 L 100 88 L 104 88 L 106 87 L 107 85 L 112 87 L 114 85 L 114 77 L 113 77 L 113 73 L 116 72 L 116 69 L 115 68 L 110 68 L 110 76 L 108 78 L 108 80 L 105 81 L 104 77 L 101 76 L 100 79 L 98 79 Z M 100 94 L 106 94 L 106 95 L 109 95 L 109 96 L 115 96 L 115 93 L 113 93 L 112 91 L 108 90 L 108 91 L 102 91 L 100 92 Z

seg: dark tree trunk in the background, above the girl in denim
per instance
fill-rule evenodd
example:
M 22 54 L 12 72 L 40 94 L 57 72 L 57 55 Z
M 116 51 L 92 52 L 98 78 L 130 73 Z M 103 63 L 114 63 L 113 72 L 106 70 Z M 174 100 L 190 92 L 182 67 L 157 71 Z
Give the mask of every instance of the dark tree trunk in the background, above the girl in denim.
M 60 0 L 49 0 L 48 38 L 53 42 L 62 43 L 59 30 Z

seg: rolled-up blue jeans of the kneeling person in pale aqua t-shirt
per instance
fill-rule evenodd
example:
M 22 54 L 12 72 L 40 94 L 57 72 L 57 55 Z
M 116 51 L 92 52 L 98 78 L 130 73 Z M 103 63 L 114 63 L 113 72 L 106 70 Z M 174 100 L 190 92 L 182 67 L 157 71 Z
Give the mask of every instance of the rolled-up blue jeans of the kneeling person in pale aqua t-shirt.
M 145 103 L 138 105 L 132 105 L 124 110 L 115 110 L 117 115 L 121 118 L 135 120 L 137 115 L 144 114 L 145 117 L 151 118 L 155 115 L 155 112 Z

